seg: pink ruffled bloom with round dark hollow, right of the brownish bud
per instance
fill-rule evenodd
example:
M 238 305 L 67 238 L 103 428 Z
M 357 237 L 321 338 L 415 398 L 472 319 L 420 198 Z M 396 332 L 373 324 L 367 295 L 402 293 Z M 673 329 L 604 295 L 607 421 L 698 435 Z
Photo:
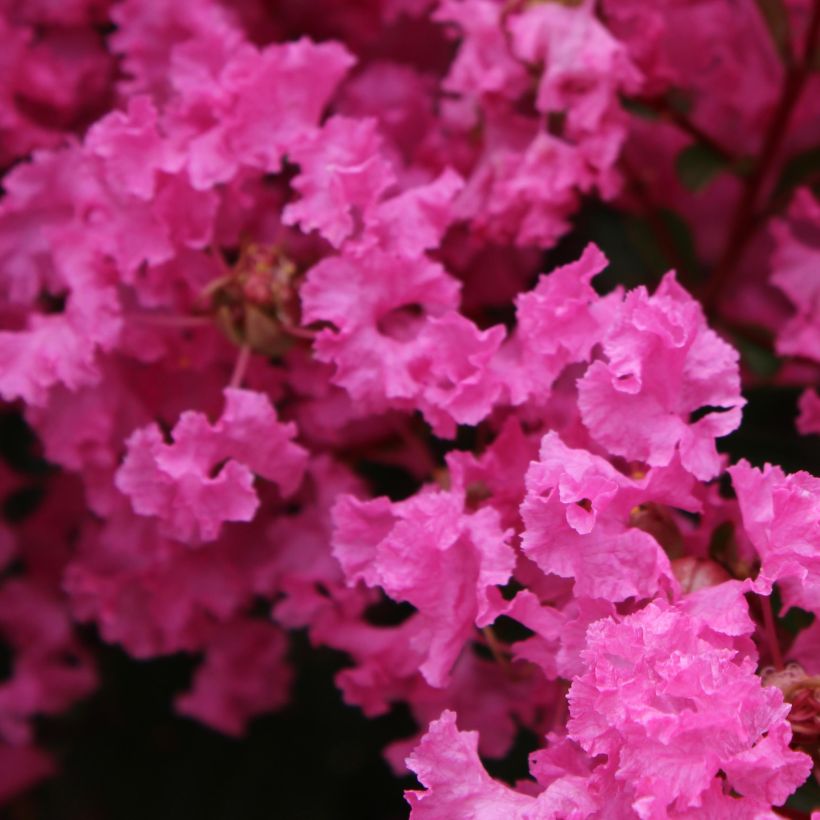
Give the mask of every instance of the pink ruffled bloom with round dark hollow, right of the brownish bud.
M 315 343 L 333 380 L 371 411 L 418 406 L 439 435 L 477 424 L 501 385 L 490 362 L 500 327 L 479 331 L 450 308 L 458 284 L 424 257 L 330 257 L 302 287 L 303 321 L 332 322 Z

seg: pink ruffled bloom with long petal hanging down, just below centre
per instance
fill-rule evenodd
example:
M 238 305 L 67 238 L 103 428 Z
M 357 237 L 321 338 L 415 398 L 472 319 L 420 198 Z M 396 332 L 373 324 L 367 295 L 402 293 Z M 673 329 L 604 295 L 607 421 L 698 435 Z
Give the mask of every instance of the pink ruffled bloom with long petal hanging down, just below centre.
M 403 502 L 342 496 L 334 509 L 333 554 L 348 583 L 380 586 L 418 609 L 421 673 L 444 686 L 464 642 L 499 612 L 496 585 L 512 573 L 515 554 L 498 514 L 466 514 L 455 494 L 428 490 Z

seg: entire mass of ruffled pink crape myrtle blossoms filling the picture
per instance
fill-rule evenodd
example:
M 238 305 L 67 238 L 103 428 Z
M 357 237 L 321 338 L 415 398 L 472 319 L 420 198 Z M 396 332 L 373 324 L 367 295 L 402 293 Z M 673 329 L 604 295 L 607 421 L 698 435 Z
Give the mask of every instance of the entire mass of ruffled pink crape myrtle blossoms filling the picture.
M 778 816 L 820 479 L 718 446 L 764 378 L 820 433 L 820 3 L 298 5 L 0 0 L 0 397 L 59 468 L 0 529 L 0 800 L 93 624 L 234 735 L 289 630 L 346 653 L 414 820 Z

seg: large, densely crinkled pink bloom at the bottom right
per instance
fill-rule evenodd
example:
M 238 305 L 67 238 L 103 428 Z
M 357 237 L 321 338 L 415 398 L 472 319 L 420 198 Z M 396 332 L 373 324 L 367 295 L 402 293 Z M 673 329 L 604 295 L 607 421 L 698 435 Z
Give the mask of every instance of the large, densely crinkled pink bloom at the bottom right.
M 719 772 L 761 807 L 781 804 L 811 762 L 789 749 L 788 706 L 752 658 L 708 621 L 663 602 L 592 624 L 572 684 L 569 736 L 605 754 L 641 817 L 695 809 Z

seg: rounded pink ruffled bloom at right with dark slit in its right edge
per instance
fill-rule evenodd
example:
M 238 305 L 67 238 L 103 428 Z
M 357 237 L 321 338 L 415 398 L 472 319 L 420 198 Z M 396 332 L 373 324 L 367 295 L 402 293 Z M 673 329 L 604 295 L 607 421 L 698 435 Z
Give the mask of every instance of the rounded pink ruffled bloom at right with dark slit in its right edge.
M 740 423 L 738 355 L 706 326 L 700 305 L 667 275 L 653 296 L 624 298 L 604 336 L 607 362 L 578 383 L 590 435 L 614 455 L 651 466 L 676 452 L 694 476 L 714 477 L 714 440 Z

